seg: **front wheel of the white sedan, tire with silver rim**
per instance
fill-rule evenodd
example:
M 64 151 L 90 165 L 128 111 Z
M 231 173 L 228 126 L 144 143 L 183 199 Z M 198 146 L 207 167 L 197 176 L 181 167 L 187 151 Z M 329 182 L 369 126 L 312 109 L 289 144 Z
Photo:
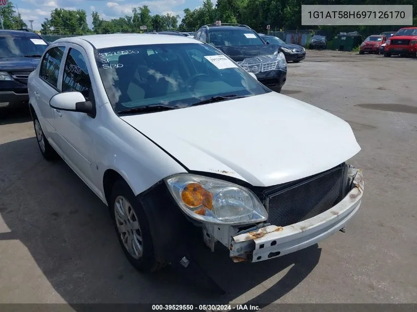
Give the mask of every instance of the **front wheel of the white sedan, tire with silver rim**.
M 155 272 L 162 268 L 164 264 L 156 261 L 152 234 L 145 210 L 124 180 L 120 179 L 114 183 L 109 210 L 117 239 L 129 262 L 137 270 L 146 273 Z M 122 214 L 124 214 L 124 218 Z M 125 232 L 120 233 L 119 226 Z M 141 240 L 139 240 L 139 237 Z M 131 246 L 131 251 L 128 250 L 128 246 Z

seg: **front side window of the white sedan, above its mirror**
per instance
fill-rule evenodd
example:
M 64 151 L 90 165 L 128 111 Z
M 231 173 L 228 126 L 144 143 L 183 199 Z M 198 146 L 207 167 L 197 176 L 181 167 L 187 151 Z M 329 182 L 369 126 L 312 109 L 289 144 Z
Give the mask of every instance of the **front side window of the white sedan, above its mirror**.
M 65 62 L 62 91 L 78 91 L 88 99 L 90 89 L 91 80 L 84 57 L 81 52 L 71 48 Z

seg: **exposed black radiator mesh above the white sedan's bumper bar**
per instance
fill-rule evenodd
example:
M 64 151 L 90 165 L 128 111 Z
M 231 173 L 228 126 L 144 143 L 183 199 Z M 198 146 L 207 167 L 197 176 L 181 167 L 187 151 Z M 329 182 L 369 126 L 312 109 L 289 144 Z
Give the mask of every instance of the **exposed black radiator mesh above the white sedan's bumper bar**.
M 268 222 L 287 226 L 320 214 L 341 201 L 343 166 L 307 178 L 268 198 Z

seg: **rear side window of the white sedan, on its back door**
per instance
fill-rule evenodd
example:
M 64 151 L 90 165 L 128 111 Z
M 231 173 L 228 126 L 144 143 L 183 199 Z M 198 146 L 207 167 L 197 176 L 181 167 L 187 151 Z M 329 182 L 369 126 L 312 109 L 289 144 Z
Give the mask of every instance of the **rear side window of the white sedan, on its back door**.
M 39 77 L 48 82 L 54 88 L 58 87 L 58 73 L 61 66 L 65 47 L 55 47 L 48 50 L 40 65 Z

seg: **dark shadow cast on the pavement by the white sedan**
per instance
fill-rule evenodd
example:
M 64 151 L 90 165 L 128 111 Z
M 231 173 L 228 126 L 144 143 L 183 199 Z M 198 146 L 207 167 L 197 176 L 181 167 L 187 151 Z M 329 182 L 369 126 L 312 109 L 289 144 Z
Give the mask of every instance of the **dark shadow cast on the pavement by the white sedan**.
M 301 283 L 320 259 L 314 245 L 266 262 L 235 264 L 226 248 L 212 253 L 201 245 L 197 258 L 226 291 L 222 296 L 190 285 L 170 267 L 142 274 L 124 257 L 108 208 L 63 161 L 45 161 L 35 138 L 1 144 L 0 159 L 8 164 L 0 167 L 0 221 L 10 229 L 0 241 L 23 243 L 76 311 L 79 303 L 225 304 L 240 296 L 239 303 L 268 304 Z M 247 298 L 254 287 L 256 296 Z

